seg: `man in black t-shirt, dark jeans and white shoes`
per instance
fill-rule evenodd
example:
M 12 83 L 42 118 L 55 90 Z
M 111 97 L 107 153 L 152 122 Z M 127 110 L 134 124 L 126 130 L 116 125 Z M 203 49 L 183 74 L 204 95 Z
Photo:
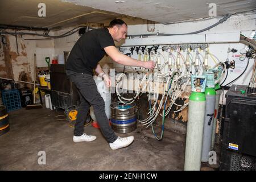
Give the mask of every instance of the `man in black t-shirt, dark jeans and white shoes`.
M 126 38 L 126 35 L 127 24 L 121 19 L 114 19 L 108 28 L 95 29 L 82 35 L 69 54 L 66 72 L 70 80 L 76 85 L 80 97 L 73 142 L 90 142 L 96 139 L 96 136 L 84 133 L 84 121 L 90 105 L 93 106 L 101 132 L 112 150 L 129 146 L 134 140 L 133 136 L 117 137 L 109 126 L 105 113 L 105 102 L 98 93 L 92 76 L 93 69 L 95 69 L 98 75 L 104 78 L 105 85 L 111 85 L 109 76 L 102 71 L 100 64 L 98 64 L 98 61 L 105 54 L 122 65 L 154 69 L 154 61 L 143 62 L 118 52 L 114 41 L 120 42 Z

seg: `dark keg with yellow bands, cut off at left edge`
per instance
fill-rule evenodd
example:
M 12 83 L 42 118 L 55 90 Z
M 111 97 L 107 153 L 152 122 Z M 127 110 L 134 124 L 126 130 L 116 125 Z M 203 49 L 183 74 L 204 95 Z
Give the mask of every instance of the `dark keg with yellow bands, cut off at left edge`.
M 6 106 L 0 105 L 0 136 L 10 130 L 9 116 L 7 114 Z

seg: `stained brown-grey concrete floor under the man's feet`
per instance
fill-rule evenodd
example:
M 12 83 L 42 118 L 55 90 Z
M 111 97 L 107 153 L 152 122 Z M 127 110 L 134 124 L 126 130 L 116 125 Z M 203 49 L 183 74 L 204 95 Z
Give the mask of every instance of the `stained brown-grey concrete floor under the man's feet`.
M 56 121 L 63 111 L 49 109 L 9 113 L 10 131 L 0 136 L 0 170 L 183 170 L 185 135 L 165 130 L 161 142 L 151 129 L 138 129 L 126 148 L 111 150 L 99 129 L 87 126 L 85 133 L 96 135 L 93 142 L 74 143 L 67 121 Z M 159 133 L 158 130 L 156 132 Z M 38 152 L 46 152 L 46 164 L 38 164 Z

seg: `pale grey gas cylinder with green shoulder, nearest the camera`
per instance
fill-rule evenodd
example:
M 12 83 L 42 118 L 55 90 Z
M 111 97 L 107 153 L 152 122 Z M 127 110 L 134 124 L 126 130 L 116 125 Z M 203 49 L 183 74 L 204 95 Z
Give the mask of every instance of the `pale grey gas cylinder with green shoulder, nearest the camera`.
M 200 171 L 205 116 L 205 76 L 191 75 L 192 93 L 188 105 L 185 171 Z

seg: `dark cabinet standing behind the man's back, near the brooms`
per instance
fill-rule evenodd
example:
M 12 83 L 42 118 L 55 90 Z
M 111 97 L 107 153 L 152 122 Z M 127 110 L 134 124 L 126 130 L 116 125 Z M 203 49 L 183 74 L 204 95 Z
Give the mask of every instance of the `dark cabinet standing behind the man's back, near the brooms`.
M 52 106 L 64 110 L 77 106 L 79 94 L 66 75 L 65 64 L 51 64 L 50 72 Z

